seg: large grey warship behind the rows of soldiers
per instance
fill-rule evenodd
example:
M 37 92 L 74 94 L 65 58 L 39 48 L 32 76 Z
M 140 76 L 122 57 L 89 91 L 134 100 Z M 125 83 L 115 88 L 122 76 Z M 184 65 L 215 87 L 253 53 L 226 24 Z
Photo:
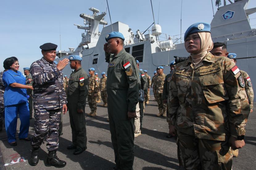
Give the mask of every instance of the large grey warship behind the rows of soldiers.
M 218 10 L 211 22 L 212 40 L 225 43 L 229 53 L 237 54 L 238 68 L 246 71 L 254 84 L 256 83 L 254 74 L 256 30 L 250 26 L 249 15 L 255 13 L 256 8 L 246 9 L 250 0 L 234 0 L 234 2 L 229 0 L 229 2 L 230 4 L 227 5 L 224 0 L 224 5 L 219 6 L 221 1 L 216 1 Z M 57 51 L 59 58 L 79 55 L 83 59 L 82 67 L 85 70 L 93 67 L 95 72 L 106 72 L 108 63 L 105 62 L 103 45 L 106 35 L 112 31 L 119 31 L 124 35 L 124 49 L 140 62 L 140 69 L 147 70 L 150 76 L 153 76 L 156 67 L 160 65 L 164 67 L 164 72 L 168 73 L 168 65 L 175 60 L 174 56 L 189 56 L 184 47 L 184 39 L 181 36 L 180 38 L 170 37 L 162 33 L 161 26 L 158 24 L 153 23 L 151 30 L 143 33 L 139 30 L 133 32 L 127 24 L 122 22 L 108 25 L 104 19 L 106 12 L 99 14 L 100 11 L 96 8 L 89 8 L 89 10 L 93 12 L 92 15 L 80 14 L 85 26 L 74 24 L 78 29 L 85 30 L 80 44 L 76 49 Z M 99 25 L 103 25 L 101 32 L 99 32 Z M 63 71 L 69 76 L 72 69 L 65 67 Z

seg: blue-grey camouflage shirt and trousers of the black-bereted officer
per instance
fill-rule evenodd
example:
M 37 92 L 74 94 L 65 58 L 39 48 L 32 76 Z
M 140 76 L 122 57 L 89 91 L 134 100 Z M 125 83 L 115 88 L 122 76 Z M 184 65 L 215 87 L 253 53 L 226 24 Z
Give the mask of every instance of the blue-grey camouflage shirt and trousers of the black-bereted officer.
M 61 109 L 67 104 L 63 87 L 63 73 L 43 57 L 32 63 L 30 73 L 33 77 L 33 101 L 35 133 L 31 146 L 38 148 L 47 135 L 47 149 L 53 151 L 59 147 L 58 129 Z

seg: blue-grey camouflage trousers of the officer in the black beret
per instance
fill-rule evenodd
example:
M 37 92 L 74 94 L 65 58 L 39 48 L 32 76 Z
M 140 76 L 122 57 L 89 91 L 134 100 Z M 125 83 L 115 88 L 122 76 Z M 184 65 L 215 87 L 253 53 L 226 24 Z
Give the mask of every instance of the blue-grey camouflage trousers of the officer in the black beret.
M 58 130 L 60 115 L 61 109 L 35 109 L 35 133 L 30 142 L 33 148 L 40 147 L 45 135 L 47 135 L 46 147 L 48 151 L 53 151 L 59 148 Z

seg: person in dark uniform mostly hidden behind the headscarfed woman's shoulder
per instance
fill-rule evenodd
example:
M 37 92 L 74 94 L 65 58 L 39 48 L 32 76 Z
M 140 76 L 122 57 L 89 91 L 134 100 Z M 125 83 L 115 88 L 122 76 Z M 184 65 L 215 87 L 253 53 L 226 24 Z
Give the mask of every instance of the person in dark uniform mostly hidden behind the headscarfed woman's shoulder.
M 165 80 L 164 80 L 164 83 L 163 83 L 163 96 L 162 96 L 162 99 L 163 99 L 163 103 L 167 103 L 167 99 L 168 99 L 168 95 L 169 95 L 169 85 L 170 85 L 170 80 L 171 80 L 171 74 L 172 74 L 172 71 L 175 67 L 175 61 L 171 61 L 170 63 L 170 74 L 167 74 L 165 76 Z M 166 115 L 167 115 L 167 122 L 168 122 L 168 105 L 167 105 L 167 109 L 166 109 Z M 168 124 L 170 124 L 168 122 Z M 171 138 L 172 135 L 171 134 L 168 134 L 166 136 L 167 138 Z

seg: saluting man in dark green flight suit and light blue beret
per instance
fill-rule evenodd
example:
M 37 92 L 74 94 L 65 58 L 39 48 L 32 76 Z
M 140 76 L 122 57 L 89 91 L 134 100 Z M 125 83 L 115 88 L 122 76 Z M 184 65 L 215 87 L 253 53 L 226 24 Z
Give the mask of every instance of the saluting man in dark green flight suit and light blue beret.
M 104 51 L 108 65 L 107 93 L 111 140 L 116 170 L 132 170 L 134 161 L 134 118 L 140 77 L 136 60 L 123 49 L 124 36 L 106 35 Z M 110 53 L 114 55 L 110 55 Z

